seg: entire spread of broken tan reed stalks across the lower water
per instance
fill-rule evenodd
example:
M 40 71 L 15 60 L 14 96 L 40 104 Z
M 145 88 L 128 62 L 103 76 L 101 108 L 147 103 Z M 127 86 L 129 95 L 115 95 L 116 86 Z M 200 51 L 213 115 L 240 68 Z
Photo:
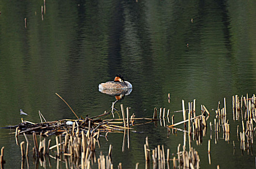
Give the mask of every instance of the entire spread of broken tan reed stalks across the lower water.
M 247 151 L 248 154 L 251 152 L 253 155 L 253 137 L 256 129 L 256 127 L 253 126 L 253 121 L 256 122 L 256 97 L 253 95 L 252 98 L 248 98 L 247 94 L 246 97 L 235 95 L 232 98 L 233 120 L 240 121 L 241 123 L 237 126 L 237 138 L 238 141 L 240 141 L 241 152 L 243 154 L 243 152 Z M 168 95 L 168 99 L 170 99 L 170 95 Z M 128 137 L 127 146 L 129 149 L 129 132 L 137 132 L 132 127 L 148 123 L 154 123 L 155 127 L 160 123 L 161 127 L 166 127 L 167 138 L 171 133 L 174 135 L 178 131 L 183 132 L 184 142 L 183 146 L 181 146 L 181 144 L 177 146 L 177 152 L 171 153 L 170 149 L 164 148 L 164 145 L 157 145 L 154 148 L 149 147 L 148 138 L 146 137 L 145 143 L 142 145 L 142 147 L 144 147 L 145 169 L 149 169 L 151 164 L 153 165 L 153 169 L 165 169 L 166 165 L 169 169 L 170 162 L 172 162 L 174 169 L 199 169 L 200 158 L 198 152 L 191 146 L 192 141 L 195 141 L 196 145 L 201 145 L 203 137 L 206 136 L 206 131 L 209 127 L 210 139 L 208 140 L 208 150 L 206 152 L 208 153 L 208 163 L 211 165 L 210 147 L 212 132 L 215 133 L 215 144 L 218 143 L 221 132 L 223 132 L 223 140 L 229 143 L 230 124 L 227 119 L 229 114 L 226 111 L 225 98 L 222 108 L 221 102 L 219 101 L 215 111 L 214 121 L 209 123 L 207 123 L 207 121 L 210 113 L 205 105 L 201 105 L 201 112 L 199 114 L 196 114 L 195 99 L 192 100 L 192 102 L 188 102 L 187 105 L 188 109 L 185 109 L 185 101 L 182 100 L 182 110 L 171 112 L 166 108 L 155 108 L 153 117 L 138 118 L 135 117 L 134 113 L 130 115 L 129 108 L 124 109 L 121 104 L 121 111 L 119 112 L 121 115 L 118 114 L 119 118 L 112 119 L 107 119 L 107 117 L 109 117 L 109 115 L 114 117 L 114 103 L 112 104 L 112 111 L 86 118 L 79 118 L 68 105 L 77 117 L 76 120 L 64 119 L 47 122 L 43 114 L 39 111 L 41 123 L 35 124 L 22 120 L 19 125 L 8 126 L 8 128 L 16 129 L 15 138 L 16 144 L 20 146 L 22 169 L 25 166 L 25 161 L 27 161 L 27 168 L 29 168 L 29 153 L 32 153 L 35 164 L 40 164 L 44 168 L 46 168 L 47 165 L 51 166 L 50 158 L 53 158 L 57 162 L 57 168 L 59 167 L 59 163 L 64 163 L 66 168 L 90 169 L 93 165 L 97 165 L 98 169 L 113 169 L 114 164 L 112 162 L 111 144 L 109 145 L 107 155 L 103 155 L 102 152 L 96 154 L 96 149 L 100 149 L 99 138 L 101 137 L 107 140 L 109 133 L 123 133 L 122 151 L 124 151 L 126 136 Z M 182 113 L 183 120 L 175 123 L 176 113 Z M 166 121 L 168 122 L 166 123 Z M 18 138 L 21 135 L 24 136 L 25 141 L 19 143 Z M 32 135 L 33 143 L 29 142 L 27 138 L 28 135 Z M 51 140 L 52 137 L 48 139 L 48 136 L 55 136 L 55 138 Z M 53 142 L 54 145 L 52 145 Z M 186 145 L 187 142 L 189 144 L 188 146 Z M 235 142 L 236 141 L 233 141 L 234 153 L 236 149 Z M 33 146 L 29 147 L 32 144 Z M 1 168 L 3 168 L 3 148 L 1 149 L 0 160 Z M 122 169 L 122 163 L 116 165 L 115 168 Z M 138 168 L 139 163 L 136 163 L 135 169 Z

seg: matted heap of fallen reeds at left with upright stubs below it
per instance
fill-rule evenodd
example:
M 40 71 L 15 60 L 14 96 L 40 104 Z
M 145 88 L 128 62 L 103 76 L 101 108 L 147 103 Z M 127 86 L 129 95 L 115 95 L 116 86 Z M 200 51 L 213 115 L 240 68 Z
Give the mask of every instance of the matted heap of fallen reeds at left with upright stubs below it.
M 71 111 L 73 112 L 72 109 Z M 99 137 L 105 137 L 107 140 L 108 133 L 120 132 L 124 133 L 125 140 L 126 130 L 128 130 L 127 135 L 129 148 L 129 132 L 136 132 L 130 126 L 144 125 L 158 120 L 152 118 L 135 118 L 134 113 L 129 117 L 128 108 L 126 109 L 127 112 L 125 116 L 122 104 L 121 111 L 123 118 L 118 119 L 101 120 L 99 117 L 110 114 L 105 112 L 91 118 L 86 117 L 85 119 L 80 118 L 78 120 L 64 119 L 52 122 L 47 122 L 43 114 L 39 111 L 41 123 L 35 124 L 22 119 L 22 122 L 19 125 L 8 126 L 7 128 L 16 129 L 16 144 L 20 146 L 20 154 L 22 157 L 21 169 L 25 166 L 25 158 L 28 165 L 27 168 L 29 168 L 28 155 L 31 151 L 29 150 L 30 144 L 27 135 L 32 135 L 33 138 L 33 160 L 36 162 L 39 161 L 40 165 L 44 168 L 47 165 L 46 159 L 48 159 L 50 166 L 49 158 L 54 158 L 57 161 L 57 166 L 59 165 L 59 162 L 64 159 L 66 163 L 65 165 L 67 166 L 66 168 L 72 168 L 72 166 L 75 166 L 75 168 L 89 169 L 94 163 L 97 163 L 99 169 L 112 169 L 112 145 L 110 145 L 108 155 L 104 156 L 100 153 L 99 158 L 96 159 L 96 145 L 100 148 Z M 78 118 L 77 115 L 76 117 Z M 43 119 L 45 122 L 43 122 Z M 19 143 L 18 137 L 20 135 L 24 136 L 26 144 L 25 141 Z M 50 143 L 53 141 L 51 141 L 51 139 L 48 139 L 47 141 L 47 138 L 48 136 L 54 135 L 54 142 L 56 142 L 56 144 L 50 146 Z M 26 148 L 24 145 L 26 145 Z M 38 164 L 39 163 L 36 165 Z M 122 168 L 122 163 L 119 163 L 118 168 Z

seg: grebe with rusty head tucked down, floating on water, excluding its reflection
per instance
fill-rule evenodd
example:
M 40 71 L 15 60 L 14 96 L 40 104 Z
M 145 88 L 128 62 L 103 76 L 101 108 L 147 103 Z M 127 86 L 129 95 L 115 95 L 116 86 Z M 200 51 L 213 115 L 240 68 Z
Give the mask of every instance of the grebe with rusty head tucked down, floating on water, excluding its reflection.
M 129 89 L 132 85 L 125 81 L 120 74 L 115 75 L 114 81 L 99 84 L 99 89 Z

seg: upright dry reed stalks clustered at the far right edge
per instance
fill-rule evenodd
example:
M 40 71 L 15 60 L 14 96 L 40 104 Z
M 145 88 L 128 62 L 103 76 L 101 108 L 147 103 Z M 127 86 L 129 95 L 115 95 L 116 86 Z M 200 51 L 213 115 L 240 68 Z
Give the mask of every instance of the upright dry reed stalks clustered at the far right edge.
M 235 95 L 232 97 L 232 115 L 234 121 L 240 121 L 240 125 L 237 125 L 237 140 L 240 141 L 241 154 L 247 151 L 247 154 L 253 155 L 253 143 L 254 143 L 254 131 L 256 127 L 253 126 L 253 121 L 256 122 L 256 97 L 255 94 L 249 98 L 248 94 L 239 97 Z M 225 108 L 220 109 L 220 101 L 218 108 L 215 111 L 216 116 L 214 119 L 215 129 L 215 144 L 219 141 L 219 133 L 223 131 L 223 139 L 229 142 L 230 125 L 227 120 L 227 113 Z M 233 142 L 234 154 L 235 154 L 235 141 Z

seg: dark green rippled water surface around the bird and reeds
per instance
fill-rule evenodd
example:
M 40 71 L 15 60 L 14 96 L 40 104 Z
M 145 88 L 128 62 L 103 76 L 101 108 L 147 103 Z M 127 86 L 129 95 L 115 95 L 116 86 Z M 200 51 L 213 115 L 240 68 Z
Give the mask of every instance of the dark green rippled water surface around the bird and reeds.
M 122 103 L 137 117 L 153 115 L 154 107 L 181 110 L 181 99 L 196 99 L 199 112 L 201 104 L 216 109 L 226 97 L 231 112 L 233 95 L 256 92 L 254 1 L 138 1 L 47 1 L 42 21 L 43 1 L 0 0 L 1 126 L 18 124 L 21 108 L 29 113 L 24 118 L 33 122 L 39 122 L 38 110 L 49 121 L 75 118 L 55 93 L 79 116 L 104 113 L 115 98 L 100 93 L 98 84 L 116 73 L 133 85 L 116 108 Z M 175 116 L 182 120 L 181 114 Z M 236 133 L 239 123 L 231 115 L 230 125 Z M 131 133 L 131 148 L 124 153 L 123 135 L 102 141 L 103 153 L 114 145 L 115 166 L 144 166 L 146 136 L 152 148 L 163 144 L 171 153 L 183 141 L 183 133 L 166 139 L 166 128 L 154 124 L 137 128 L 144 133 Z M 1 130 L 0 146 L 6 147 L 6 158 L 18 161 L 7 161 L 6 167 L 16 168 L 19 148 L 7 133 Z M 230 137 L 237 141 L 236 134 Z M 208 138 L 209 133 L 201 146 L 192 145 L 201 168 L 255 167 L 253 155 L 241 156 L 239 149 L 233 155 L 233 146 L 225 141 L 212 145 L 208 165 Z

